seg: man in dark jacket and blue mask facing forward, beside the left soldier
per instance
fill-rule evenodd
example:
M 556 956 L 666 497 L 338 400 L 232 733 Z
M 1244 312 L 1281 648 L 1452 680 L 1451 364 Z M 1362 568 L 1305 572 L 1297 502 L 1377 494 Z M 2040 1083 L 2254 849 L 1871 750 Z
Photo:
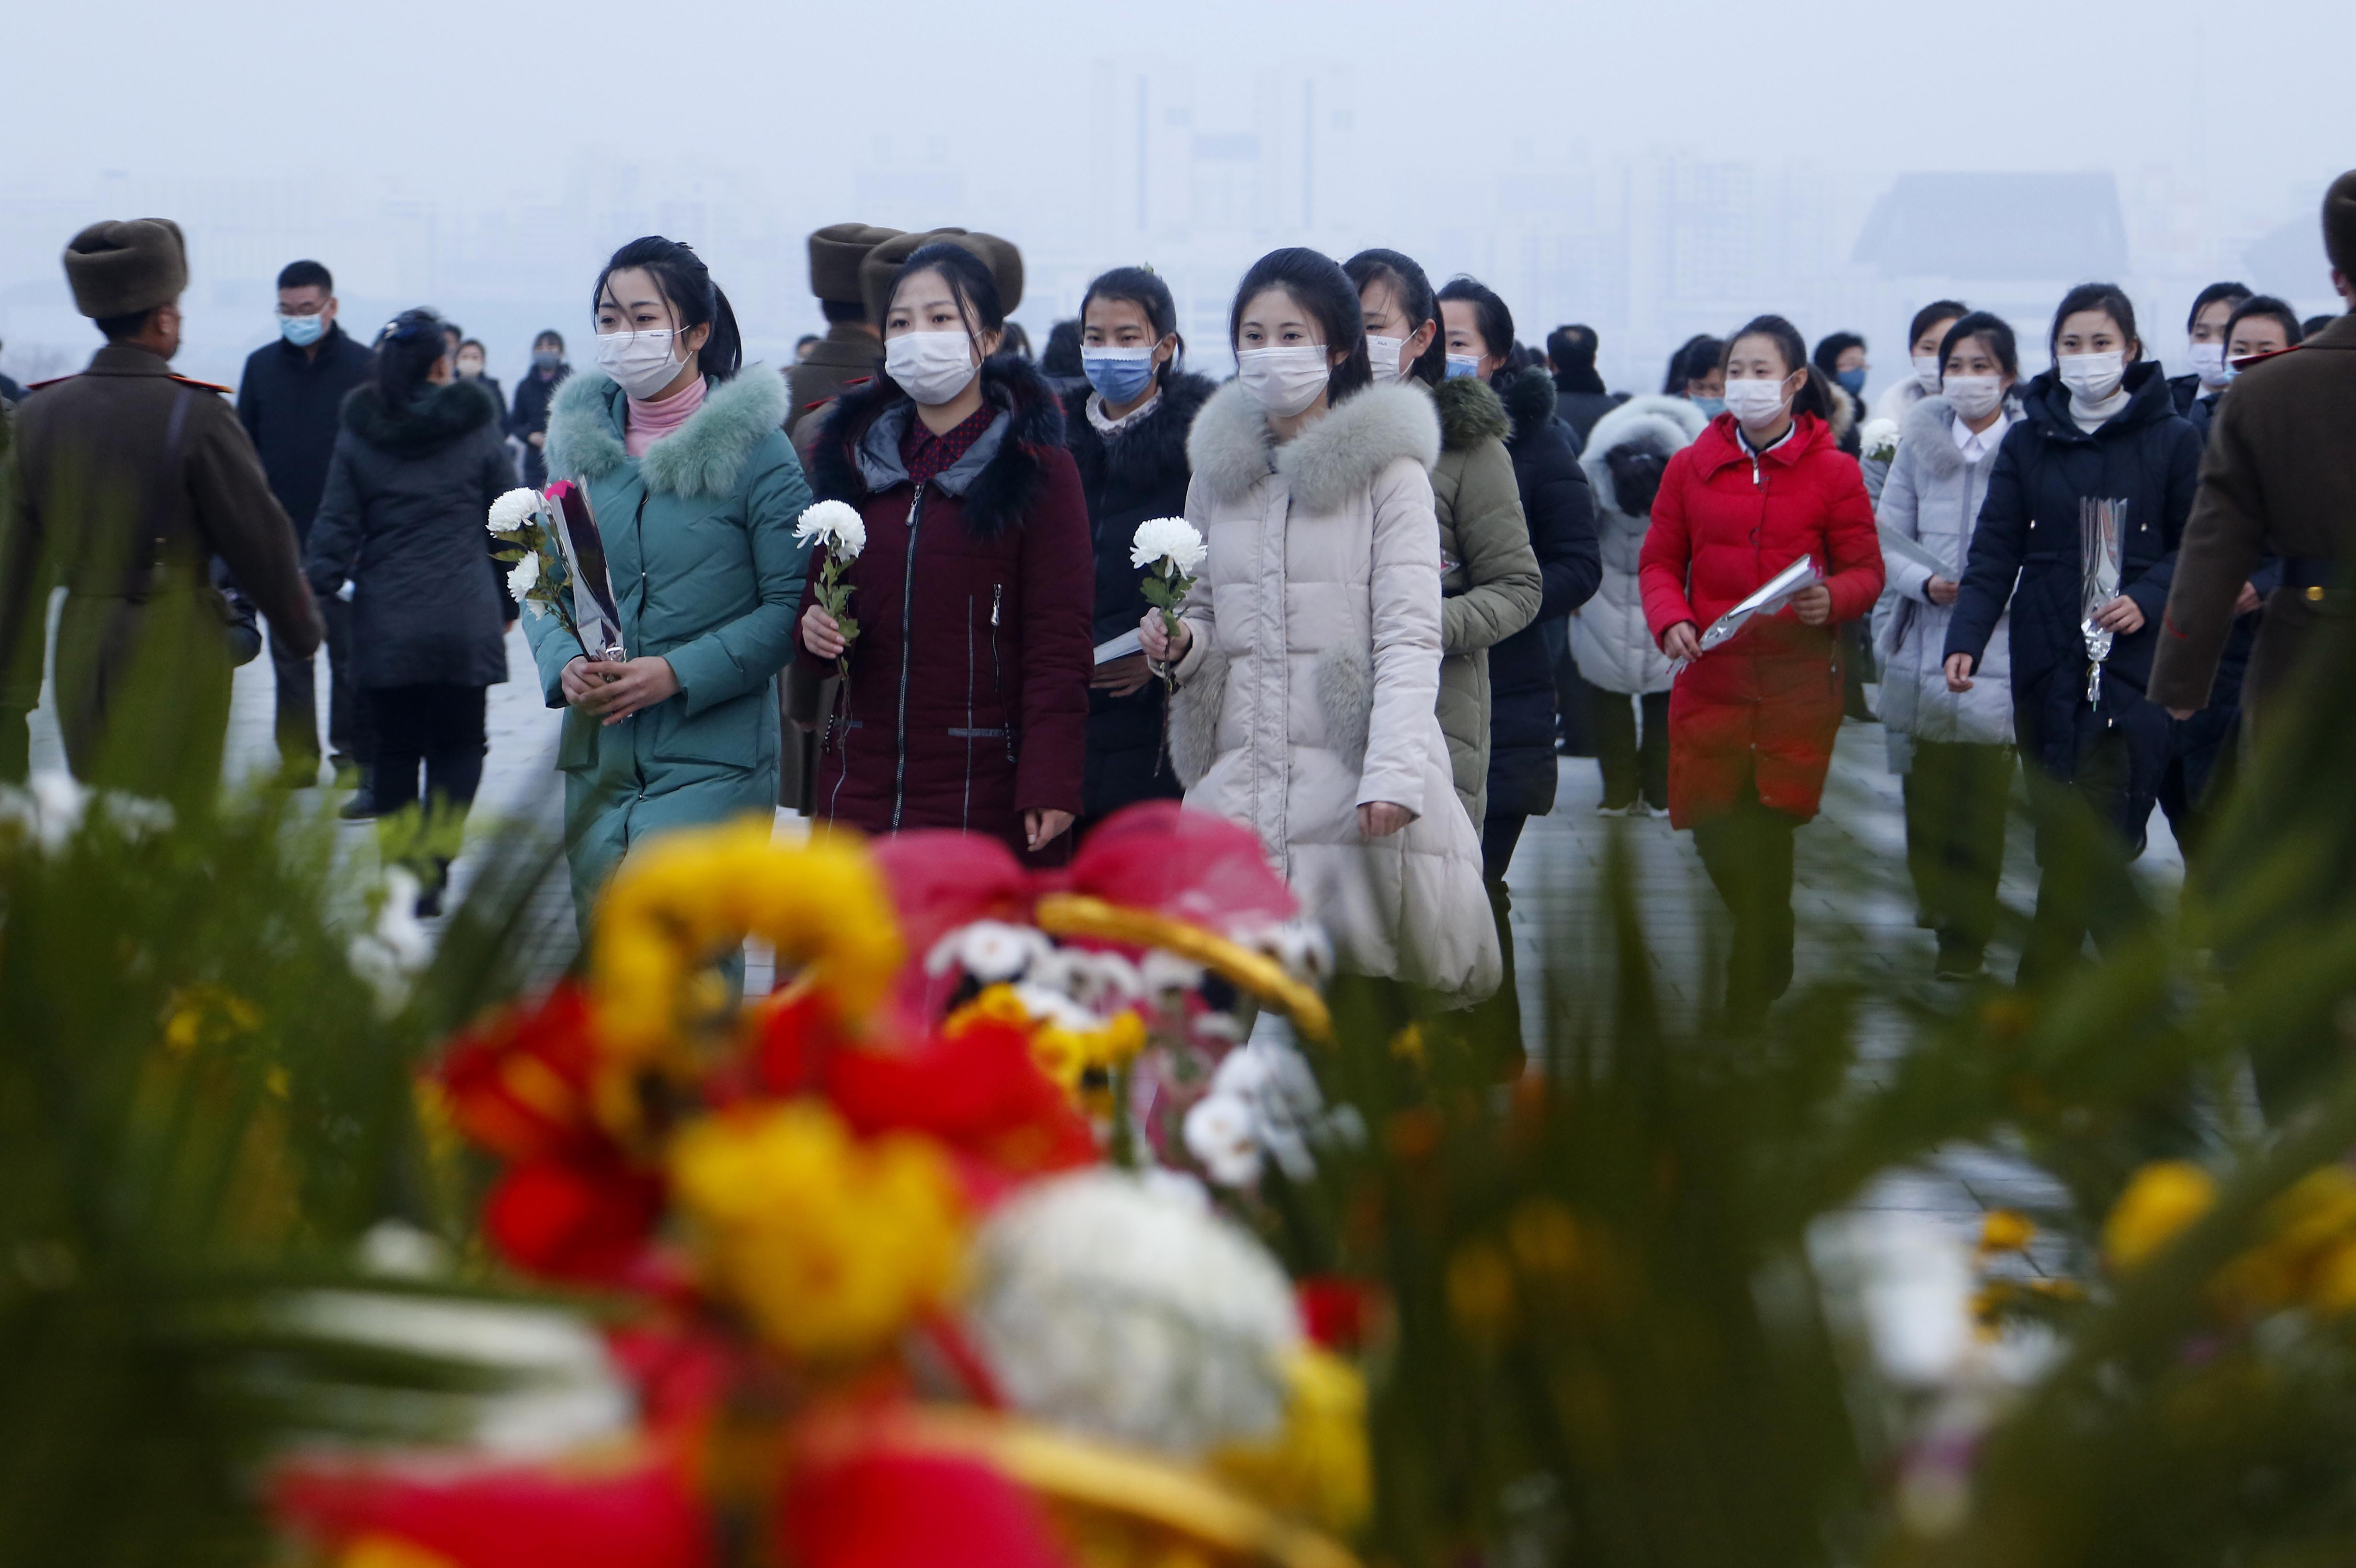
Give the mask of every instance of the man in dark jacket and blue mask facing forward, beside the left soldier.
M 375 356 L 346 337 L 335 320 L 335 278 L 318 261 L 290 261 L 278 273 L 278 341 L 245 358 L 238 384 L 238 419 L 262 454 L 271 494 L 294 523 L 294 537 L 311 537 L 320 490 L 327 487 L 327 454 L 335 452 L 344 393 L 368 379 Z M 351 607 L 332 598 L 327 617 L 327 742 L 335 768 L 368 760 L 363 718 L 351 697 Z M 290 784 L 318 784 L 318 687 L 313 659 L 294 638 L 271 624 L 271 666 L 278 673 L 278 765 Z

